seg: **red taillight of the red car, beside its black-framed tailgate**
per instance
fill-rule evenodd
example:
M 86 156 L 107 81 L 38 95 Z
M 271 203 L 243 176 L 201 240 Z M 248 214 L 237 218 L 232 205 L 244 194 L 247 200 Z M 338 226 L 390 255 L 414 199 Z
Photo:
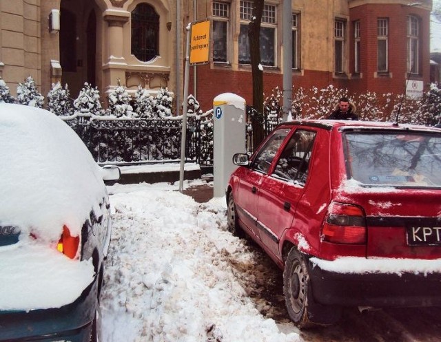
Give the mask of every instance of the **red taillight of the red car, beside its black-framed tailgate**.
M 332 202 L 322 228 L 322 237 L 335 244 L 365 244 L 365 213 L 360 206 Z

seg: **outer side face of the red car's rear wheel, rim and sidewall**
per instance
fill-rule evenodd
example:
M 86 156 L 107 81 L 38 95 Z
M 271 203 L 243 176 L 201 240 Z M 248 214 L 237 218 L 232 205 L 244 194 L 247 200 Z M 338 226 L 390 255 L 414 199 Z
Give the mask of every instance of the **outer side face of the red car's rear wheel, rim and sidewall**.
M 308 318 L 309 275 L 305 260 L 293 247 L 289 251 L 283 270 L 283 293 L 289 317 L 298 328 L 311 325 Z

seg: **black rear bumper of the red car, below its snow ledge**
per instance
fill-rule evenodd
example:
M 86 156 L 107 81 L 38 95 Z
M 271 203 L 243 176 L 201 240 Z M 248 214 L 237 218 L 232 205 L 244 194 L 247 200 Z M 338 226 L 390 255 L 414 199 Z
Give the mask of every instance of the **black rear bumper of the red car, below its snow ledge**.
M 307 262 L 317 303 L 374 308 L 441 306 L 440 272 L 336 272 Z

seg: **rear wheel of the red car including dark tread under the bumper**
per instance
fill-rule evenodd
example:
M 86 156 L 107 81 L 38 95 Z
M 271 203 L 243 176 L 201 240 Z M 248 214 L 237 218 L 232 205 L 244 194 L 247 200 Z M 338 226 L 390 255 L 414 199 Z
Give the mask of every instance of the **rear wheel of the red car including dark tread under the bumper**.
M 285 261 L 283 293 L 289 317 L 298 328 L 331 325 L 341 317 L 341 307 L 326 306 L 314 301 L 305 258 L 296 247 L 291 248 Z

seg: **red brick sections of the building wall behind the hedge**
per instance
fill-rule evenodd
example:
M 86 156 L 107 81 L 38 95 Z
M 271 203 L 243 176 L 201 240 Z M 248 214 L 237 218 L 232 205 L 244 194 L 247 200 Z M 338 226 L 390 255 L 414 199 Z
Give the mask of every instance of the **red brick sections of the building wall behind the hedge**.
M 407 17 L 418 17 L 420 23 L 420 72 L 408 75 L 407 68 Z M 334 77 L 331 71 L 302 70 L 293 72 L 293 86 L 309 89 L 312 86 L 347 88 L 349 95 L 362 92 L 377 94 L 405 91 L 406 80 L 423 81 L 425 89 L 429 84 L 429 10 L 402 4 L 363 4 L 349 9 L 347 19 L 347 49 L 349 70 L 341 77 Z M 377 19 L 388 19 L 388 72 L 377 72 Z M 354 39 L 353 23 L 360 21 L 360 73 L 354 72 Z M 301 34 L 301 32 L 300 32 Z M 332 36 L 331 36 L 332 39 Z M 323 54 L 326 55 L 326 54 Z M 328 54 L 332 56 L 332 54 Z M 202 65 L 197 67 L 196 98 L 203 110 L 212 107 L 212 100 L 218 94 L 233 92 L 252 104 L 252 73 L 251 68 L 239 66 L 238 71 L 231 66 Z M 192 68 L 193 69 L 193 68 Z M 189 92 L 194 92 L 193 71 L 190 74 Z M 280 68 L 265 68 L 265 96 L 278 86 L 283 87 L 283 75 Z

